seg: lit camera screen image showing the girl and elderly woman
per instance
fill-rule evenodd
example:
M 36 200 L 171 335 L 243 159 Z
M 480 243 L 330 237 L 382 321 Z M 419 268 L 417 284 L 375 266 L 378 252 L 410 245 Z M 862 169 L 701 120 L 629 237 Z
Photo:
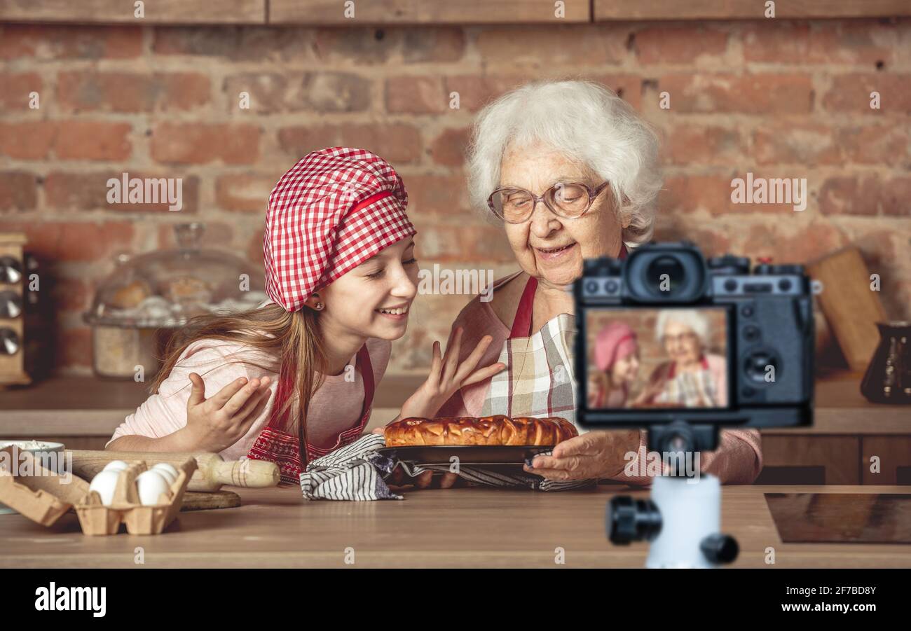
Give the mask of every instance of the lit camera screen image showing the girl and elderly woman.
M 723 307 L 589 309 L 589 410 L 728 407 Z

